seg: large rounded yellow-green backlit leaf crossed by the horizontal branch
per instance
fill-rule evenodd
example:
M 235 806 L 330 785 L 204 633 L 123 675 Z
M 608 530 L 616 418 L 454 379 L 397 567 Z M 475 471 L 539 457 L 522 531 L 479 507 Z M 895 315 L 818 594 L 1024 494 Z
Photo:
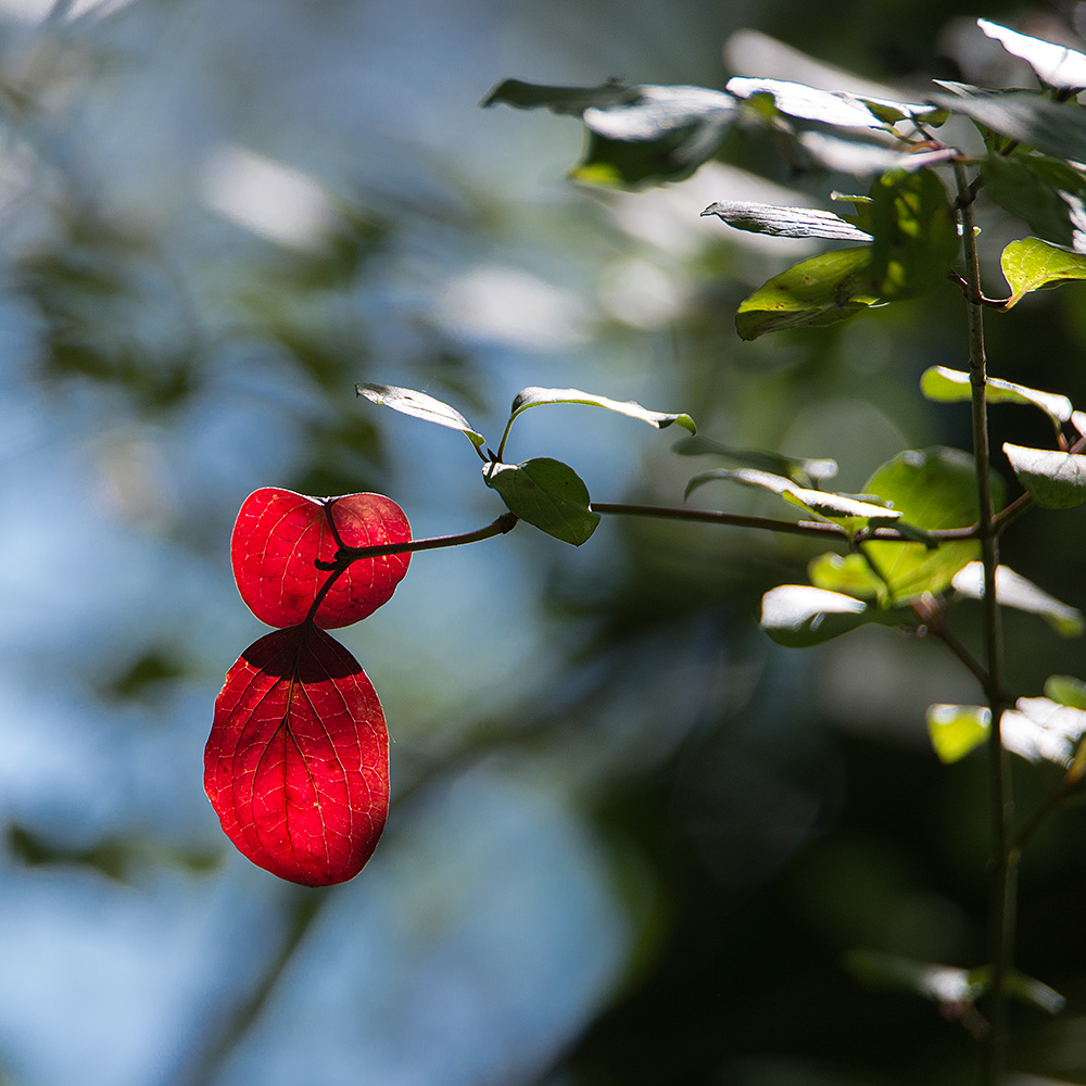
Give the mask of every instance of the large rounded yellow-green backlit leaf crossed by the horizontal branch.
M 998 505 L 1000 487 L 993 479 Z M 864 484 L 864 491 L 892 505 L 910 525 L 924 531 L 968 528 L 976 523 L 976 473 L 973 458 L 957 449 L 926 449 L 899 453 Z M 964 565 L 980 557 L 976 540 L 923 543 L 871 540 L 864 554 L 880 571 L 891 599 L 904 603 L 930 592 L 945 591 Z

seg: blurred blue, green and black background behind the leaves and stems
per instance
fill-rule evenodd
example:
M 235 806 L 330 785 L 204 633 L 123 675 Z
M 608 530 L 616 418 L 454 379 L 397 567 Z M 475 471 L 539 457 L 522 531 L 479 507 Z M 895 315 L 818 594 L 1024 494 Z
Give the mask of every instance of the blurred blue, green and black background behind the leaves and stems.
M 0 1082 L 965 1079 L 958 1023 L 845 962 L 985 959 L 983 759 L 938 766 L 923 723 L 976 692 L 885 629 L 773 646 L 759 599 L 804 579 L 805 542 L 609 518 L 579 550 L 521 527 L 416 556 L 342 632 L 384 703 L 395 795 L 342 887 L 235 853 L 202 748 L 263 632 L 229 567 L 250 491 L 378 490 L 417 536 L 501 512 L 468 442 L 356 381 L 425 389 L 491 442 L 525 386 L 636 399 L 729 445 L 836 457 L 857 490 L 900 449 L 969 440 L 917 388 L 963 362 L 952 286 L 735 337 L 737 302 L 807 250 L 698 212 L 824 206 L 831 180 L 736 138 L 680 185 L 577 187 L 579 123 L 479 109 L 493 85 L 721 88 L 795 77 L 787 46 L 913 93 L 1028 86 L 973 17 L 1074 41 L 1084 9 L 2 0 Z M 1086 291 L 990 325 L 994 372 L 1086 405 Z M 1023 414 L 994 412 L 997 447 L 1045 440 Z M 671 433 L 547 408 L 510 456 L 670 505 L 708 466 Z M 1037 514 L 1006 558 L 1086 607 L 1083 526 Z M 1081 642 L 1030 617 L 1007 636 L 1021 693 L 1083 675 Z M 1051 781 L 1021 778 L 1028 810 Z M 1069 1005 L 1015 1011 L 1019 1086 L 1086 1083 L 1084 837 L 1068 811 L 1024 860 L 1019 961 Z

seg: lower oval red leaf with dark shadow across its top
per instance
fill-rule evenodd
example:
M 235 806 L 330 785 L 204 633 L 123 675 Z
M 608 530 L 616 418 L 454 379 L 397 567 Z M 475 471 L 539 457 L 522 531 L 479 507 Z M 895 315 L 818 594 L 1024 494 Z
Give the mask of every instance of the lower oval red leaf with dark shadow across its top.
M 204 790 L 254 863 L 305 886 L 353 879 L 389 811 L 389 733 L 358 661 L 312 623 L 250 645 L 215 703 Z

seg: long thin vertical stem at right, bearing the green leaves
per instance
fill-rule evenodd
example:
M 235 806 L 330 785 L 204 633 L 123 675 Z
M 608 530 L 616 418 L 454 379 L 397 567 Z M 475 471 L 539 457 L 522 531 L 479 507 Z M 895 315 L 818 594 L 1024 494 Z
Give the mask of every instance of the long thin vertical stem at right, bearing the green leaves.
M 999 565 L 999 536 L 992 497 L 990 454 L 985 386 L 984 296 L 981 293 L 980 260 L 972 201 L 974 190 L 961 163 L 955 163 L 958 205 L 961 216 L 962 251 L 965 258 L 965 313 L 969 333 L 969 374 L 972 389 L 973 457 L 976 464 L 977 535 L 984 567 L 984 684 L 992 711 L 988 734 L 988 773 L 992 819 L 992 952 L 993 974 L 989 995 L 992 1030 L 986 1037 L 982 1061 L 982 1086 L 995 1086 L 1002 1075 L 1007 1055 L 1007 977 L 1014 943 L 1014 897 L 1018 864 L 1010 850 L 1010 825 L 1013 798 L 1007 754 L 1002 746 L 1000 717 L 1002 694 L 1002 631 L 996 599 L 996 568 Z

